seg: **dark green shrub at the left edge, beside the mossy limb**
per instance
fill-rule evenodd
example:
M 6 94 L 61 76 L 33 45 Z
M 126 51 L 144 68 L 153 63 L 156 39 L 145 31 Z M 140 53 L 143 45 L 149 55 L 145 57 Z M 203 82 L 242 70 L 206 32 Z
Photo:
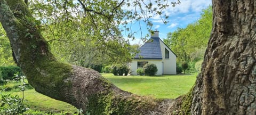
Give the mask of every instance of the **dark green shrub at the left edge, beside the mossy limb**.
M 23 75 L 21 69 L 17 66 L 2 66 L 0 67 L 0 72 L 0 78 L 3 80 L 13 80 L 15 73 L 18 73 L 20 76 Z

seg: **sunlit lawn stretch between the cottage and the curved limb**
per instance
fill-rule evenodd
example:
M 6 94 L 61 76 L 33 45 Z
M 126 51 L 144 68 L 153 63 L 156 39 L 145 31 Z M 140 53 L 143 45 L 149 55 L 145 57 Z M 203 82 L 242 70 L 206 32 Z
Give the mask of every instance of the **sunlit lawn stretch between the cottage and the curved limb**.
M 158 77 L 114 76 L 111 73 L 102 73 L 101 75 L 124 91 L 139 95 L 151 95 L 156 98 L 176 98 L 186 94 L 196 80 L 196 74 Z

